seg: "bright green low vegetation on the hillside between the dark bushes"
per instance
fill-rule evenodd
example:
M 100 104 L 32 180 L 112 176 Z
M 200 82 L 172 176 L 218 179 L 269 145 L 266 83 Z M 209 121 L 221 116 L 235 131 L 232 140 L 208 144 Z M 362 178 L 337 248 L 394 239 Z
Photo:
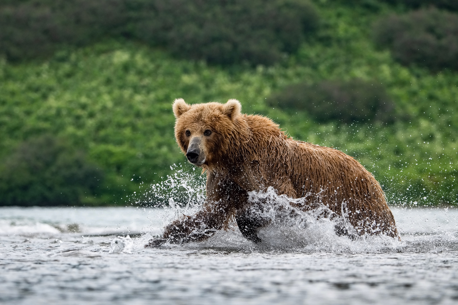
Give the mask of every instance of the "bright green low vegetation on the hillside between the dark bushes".
M 79 172 L 78 177 L 93 171 L 95 180 L 82 183 L 78 178 L 68 191 L 67 198 L 78 197 L 74 204 L 135 201 L 138 194 L 132 193 L 143 193 L 173 172 L 174 163 L 185 163 L 173 137 L 174 98 L 190 103 L 237 98 L 244 112 L 273 118 L 295 139 L 354 156 L 374 173 L 391 203 L 456 203 L 458 73 L 402 66 L 372 42 L 374 22 L 398 8 L 375 0 L 374 5 L 349 2 L 314 2 L 322 20 L 317 32 L 270 66 L 177 59 L 167 48 L 119 37 L 83 48 L 61 47 L 46 60 L 2 60 L 0 159 L 8 166 L 0 167 L 0 190 L 13 194 L 11 185 L 21 185 L 8 177 L 17 168 L 32 172 L 27 168 L 33 164 L 19 166 L 28 157 L 18 152 L 48 134 L 63 143 L 58 147 L 73 148 L 49 161 L 49 170 L 38 180 L 55 172 L 64 180 L 66 167 Z M 355 79 L 383 86 L 402 119 L 382 124 L 327 118 L 318 123 L 306 108 L 293 111 L 267 103 L 294 84 Z M 69 165 L 60 166 L 58 160 Z M 55 193 L 64 187 L 56 185 Z M 19 204 L 11 198 L 20 195 L 6 193 L 0 191 L 0 205 Z

